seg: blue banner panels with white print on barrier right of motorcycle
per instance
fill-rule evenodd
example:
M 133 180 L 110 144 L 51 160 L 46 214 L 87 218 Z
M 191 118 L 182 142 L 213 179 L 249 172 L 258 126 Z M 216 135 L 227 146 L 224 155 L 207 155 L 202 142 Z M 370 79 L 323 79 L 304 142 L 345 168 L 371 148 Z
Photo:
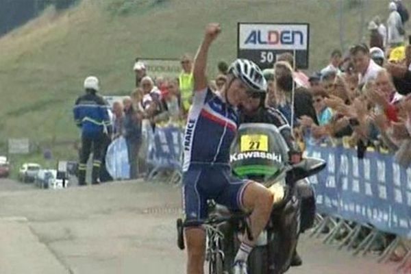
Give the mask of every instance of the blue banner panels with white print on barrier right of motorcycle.
M 411 236 L 411 168 L 378 152 L 359 159 L 354 149 L 309 146 L 307 153 L 327 161 L 324 171 L 310 177 L 319 212 Z

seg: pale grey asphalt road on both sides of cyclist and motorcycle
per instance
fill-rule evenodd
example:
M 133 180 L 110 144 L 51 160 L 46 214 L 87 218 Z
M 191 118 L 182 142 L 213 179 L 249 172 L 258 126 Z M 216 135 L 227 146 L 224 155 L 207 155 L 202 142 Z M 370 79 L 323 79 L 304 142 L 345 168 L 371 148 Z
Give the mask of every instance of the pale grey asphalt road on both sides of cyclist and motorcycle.
M 184 273 L 179 188 L 145 182 L 40 190 L 0 180 L 0 273 Z M 290 274 L 388 274 L 393 264 L 303 237 Z

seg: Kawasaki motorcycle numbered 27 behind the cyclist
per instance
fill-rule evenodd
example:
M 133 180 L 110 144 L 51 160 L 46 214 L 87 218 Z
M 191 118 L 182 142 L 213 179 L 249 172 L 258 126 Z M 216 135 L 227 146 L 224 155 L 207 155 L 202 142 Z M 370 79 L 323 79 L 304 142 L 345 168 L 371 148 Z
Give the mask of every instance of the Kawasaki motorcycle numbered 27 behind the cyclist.
M 240 125 L 231 148 L 232 171 L 237 177 L 259 182 L 274 196 L 269 223 L 249 256 L 251 274 L 281 274 L 289 269 L 300 232 L 300 199 L 296 184 L 325 168 L 325 161 L 321 159 L 305 158 L 290 164 L 291 157 L 275 125 Z M 237 227 L 228 225 L 224 233 L 225 271 L 230 273 L 240 240 Z

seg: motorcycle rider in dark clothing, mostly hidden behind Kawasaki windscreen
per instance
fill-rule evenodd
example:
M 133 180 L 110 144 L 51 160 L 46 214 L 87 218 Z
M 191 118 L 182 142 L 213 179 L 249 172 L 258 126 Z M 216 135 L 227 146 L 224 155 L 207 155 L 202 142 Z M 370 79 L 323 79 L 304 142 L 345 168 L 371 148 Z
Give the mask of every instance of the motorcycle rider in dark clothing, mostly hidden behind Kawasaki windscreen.
M 266 79 L 270 79 L 271 75 L 264 73 Z M 279 133 L 282 134 L 284 140 L 290 149 L 290 155 L 301 155 L 299 153 L 299 148 L 295 143 L 294 138 L 292 137 L 292 131 L 288 121 L 285 116 L 279 110 L 267 107 L 266 106 L 266 94 L 258 93 L 251 95 L 248 100 L 243 101 L 240 108 L 240 124 L 241 123 L 268 123 L 273 124 L 279 129 Z M 292 159 L 291 159 L 292 161 Z M 303 181 L 297 183 L 297 195 L 301 200 L 301 229 L 300 232 L 311 227 L 312 222 L 314 221 L 315 214 L 315 200 L 314 200 L 314 191 L 312 187 L 306 184 Z M 310 214 L 306 214 L 306 211 L 309 211 Z M 312 217 L 303 216 L 311 215 Z M 293 258 L 291 260 L 290 266 L 300 266 L 302 260 L 295 250 Z

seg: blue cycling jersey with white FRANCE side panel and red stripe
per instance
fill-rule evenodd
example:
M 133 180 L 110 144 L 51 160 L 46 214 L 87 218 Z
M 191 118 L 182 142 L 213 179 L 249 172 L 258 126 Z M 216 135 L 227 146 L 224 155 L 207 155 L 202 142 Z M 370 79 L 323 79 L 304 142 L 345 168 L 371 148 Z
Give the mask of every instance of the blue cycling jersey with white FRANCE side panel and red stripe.
M 194 92 L 184 135 L 183 171 L 192 164 L 228 164 L 238 114 L 210 88 Z

